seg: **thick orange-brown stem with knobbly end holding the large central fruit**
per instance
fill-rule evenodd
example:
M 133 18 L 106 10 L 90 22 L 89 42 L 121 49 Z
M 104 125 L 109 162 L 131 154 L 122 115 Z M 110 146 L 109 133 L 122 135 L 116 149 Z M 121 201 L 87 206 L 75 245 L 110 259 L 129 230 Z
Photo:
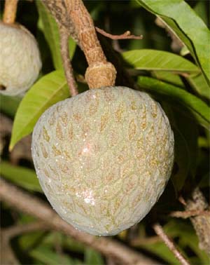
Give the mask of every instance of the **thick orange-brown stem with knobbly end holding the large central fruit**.
M 107 62 L 104 51 L 97 39 L 94 23 L 82 0 L 65 0 L 66 9 L 78 36 L 80 48 L 85 53 L 87 71 L 85 79 L 89 88 L 102 86 L 114 86 L 116 81 L 116 69 Z

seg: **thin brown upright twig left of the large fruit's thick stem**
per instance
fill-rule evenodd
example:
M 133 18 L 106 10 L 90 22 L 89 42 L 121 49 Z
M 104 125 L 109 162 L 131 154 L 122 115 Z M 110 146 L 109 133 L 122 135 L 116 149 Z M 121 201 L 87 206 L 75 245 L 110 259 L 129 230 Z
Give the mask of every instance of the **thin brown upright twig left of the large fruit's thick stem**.
M 60 49 L 62 54 L 62 61 L 64 65 L 64 72 L 66 76 L 66 81 L 69 86 L 71 96 L 78 94 L 76 81 L 73 77 L 73 69 L 71 66 L 71 61 L 69 59 L 69 34 L 66 29 L 62 26 L 59 27 L 60 33 Z

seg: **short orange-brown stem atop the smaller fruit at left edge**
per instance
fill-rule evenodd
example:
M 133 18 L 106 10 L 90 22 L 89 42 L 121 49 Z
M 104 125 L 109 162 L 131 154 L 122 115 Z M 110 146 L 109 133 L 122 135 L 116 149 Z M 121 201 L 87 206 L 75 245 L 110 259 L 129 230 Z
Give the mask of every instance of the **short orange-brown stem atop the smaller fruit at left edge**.
M 3 22 L 14 24 L 17 12 L 18 0 L 6 0 L 3 11 Z

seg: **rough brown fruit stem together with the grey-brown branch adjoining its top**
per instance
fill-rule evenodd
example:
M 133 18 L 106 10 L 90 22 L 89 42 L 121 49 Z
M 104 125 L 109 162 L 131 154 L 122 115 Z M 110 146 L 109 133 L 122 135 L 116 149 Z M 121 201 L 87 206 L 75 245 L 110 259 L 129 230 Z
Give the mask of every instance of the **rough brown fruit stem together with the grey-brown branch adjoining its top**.
M 97 39 L 92 18 L 81 0 L 43 0 L 60 27 L 78 42 L 85 53 L 89 67 L 85 79 L 89 88 L 113 86 L 116 81 L 116 69 L 107 62 Z

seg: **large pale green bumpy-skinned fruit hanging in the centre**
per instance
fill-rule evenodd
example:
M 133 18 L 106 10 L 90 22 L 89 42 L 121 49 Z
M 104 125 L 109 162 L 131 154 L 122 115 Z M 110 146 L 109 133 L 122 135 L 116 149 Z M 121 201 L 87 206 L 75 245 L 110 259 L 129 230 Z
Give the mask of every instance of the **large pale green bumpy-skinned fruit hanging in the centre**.
M 111 236 L 158 201 L 172 172 L 174 135 L 148 94 L 106 87 L 58 102 L 32 137 L 39 182 L 69 224 Z

